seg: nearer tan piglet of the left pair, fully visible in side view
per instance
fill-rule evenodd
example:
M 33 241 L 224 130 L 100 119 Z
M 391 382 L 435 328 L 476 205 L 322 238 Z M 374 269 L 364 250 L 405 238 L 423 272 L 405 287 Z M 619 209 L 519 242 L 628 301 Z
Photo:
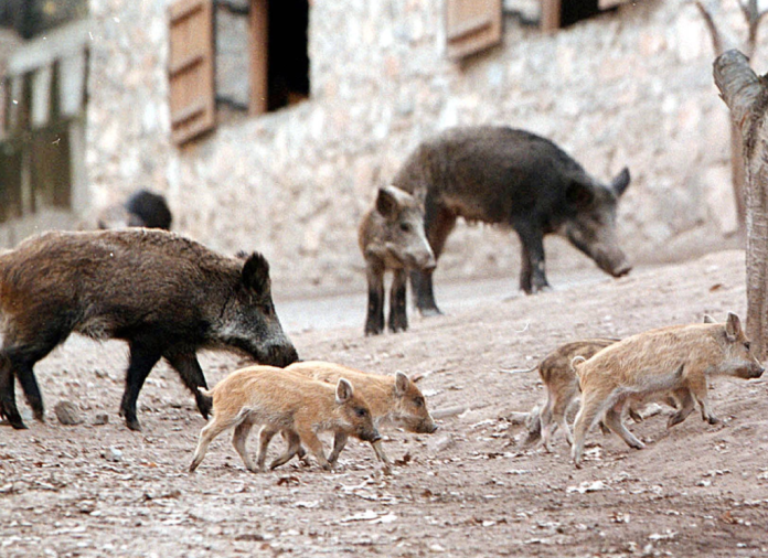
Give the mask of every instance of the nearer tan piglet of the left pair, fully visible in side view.
M 289 444 L 271 469 L 287 462 L 303 443 L 320 465 L 330 470 L 318 432 L 330 430 L 355 436 L 375 443 L 381 440 L 365 399 L 355 394 L 352 384 L 340 378 L 335 387 L 300 374 L 271 366 L 249 366 L 230 374 L 211 391 L 213 418 L 200 432 L 200 442 L 190 464 L 194 471 L 203 461 L 211 441 L 230 428 L 235 432 L 232 443 L 248 471 L 264 471 L 267 446 L 276 432 L 286 432 Z M 254 425 L 262 425 L 256 464 L 245 449 Z

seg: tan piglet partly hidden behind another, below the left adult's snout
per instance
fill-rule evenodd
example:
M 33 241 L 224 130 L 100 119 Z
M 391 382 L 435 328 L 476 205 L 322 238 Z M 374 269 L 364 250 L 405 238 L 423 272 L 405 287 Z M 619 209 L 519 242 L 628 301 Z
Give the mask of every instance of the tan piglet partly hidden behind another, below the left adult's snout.
M 331 384 L 339 378 L 349 379 L 371 407 L 373 423 L 376 428 L 390 423 L 416 433 L 428 434 L 437 430 L 422 390 L 402 372 L 396 372 L 394 376 L 384 376 L 320 361 L 297 362 L 285 369 Z M 344 432 L 337 432 L 333 439 L 333 451 L 328 458 L 329 462 L 337 462 L 346 444 L 346 439 L 348 436 Z M 376 453 L 384 462 L 384 470 L 388 471 L 392 468 L 390 459 L 383 450 Z

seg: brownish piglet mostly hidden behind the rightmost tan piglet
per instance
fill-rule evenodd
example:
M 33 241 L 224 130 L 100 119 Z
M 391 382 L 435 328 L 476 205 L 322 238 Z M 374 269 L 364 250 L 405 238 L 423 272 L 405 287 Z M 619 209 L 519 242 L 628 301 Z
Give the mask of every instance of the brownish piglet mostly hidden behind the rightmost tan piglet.
M 559 426 L 568 443 L 573 443 L 566 415 L 579 395 L 578 379 L 570 363 L 577 356 L 590 358 L 598 351 L 612 345 L 617 339 L 586 339 L 561 345 L 538 363 L 538 375 L 546 389 L 546 403 L 537 412 L 532 411 L 529 425 L 527 443 L 541 437 L 542 443 L 551 451 L 551 437 Z

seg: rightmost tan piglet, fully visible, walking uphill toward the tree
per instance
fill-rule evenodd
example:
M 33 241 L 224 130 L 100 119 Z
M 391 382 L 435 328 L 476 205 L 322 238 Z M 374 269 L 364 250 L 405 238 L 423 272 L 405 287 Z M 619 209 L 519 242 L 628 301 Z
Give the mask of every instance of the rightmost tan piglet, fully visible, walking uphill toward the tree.
M 707 400 L 707 377 L 729 375 L 748 379 L 760 377 L 762 372 L 738 316 L 733 313 L 728 313 L 724 324 L 673 325 L 615 343 L 576 364 L 582 408 L 574 422 L 574 463 L 580 466 L 585 437 L 600 417 L 630 448 L 644 447 L 621 420 L 628 400 L 672 391 L 680 409 L 670 417 L 668 427 L 685 420 L 693 411 L 694 399 L 702 418 L 715 423 L 718 419 Z

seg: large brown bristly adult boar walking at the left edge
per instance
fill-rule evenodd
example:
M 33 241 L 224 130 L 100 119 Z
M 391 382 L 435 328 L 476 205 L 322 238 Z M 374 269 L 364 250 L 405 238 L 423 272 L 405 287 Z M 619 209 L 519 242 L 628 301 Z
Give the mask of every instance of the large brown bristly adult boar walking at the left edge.
M 128 342 L 120 414 L 139 430 L 136 400 L 166 358 L 207 417 L 200 348 L 242 352 L 259 363 L 298 360 L 275 314 L 269 265 L 260 254 L 231 258 L 156 229 L 45 233 L 0 256 L 0 417 L 25 428 L 19 379 L 34 416 L 43 401 L 32 367 L 70 333 Z

